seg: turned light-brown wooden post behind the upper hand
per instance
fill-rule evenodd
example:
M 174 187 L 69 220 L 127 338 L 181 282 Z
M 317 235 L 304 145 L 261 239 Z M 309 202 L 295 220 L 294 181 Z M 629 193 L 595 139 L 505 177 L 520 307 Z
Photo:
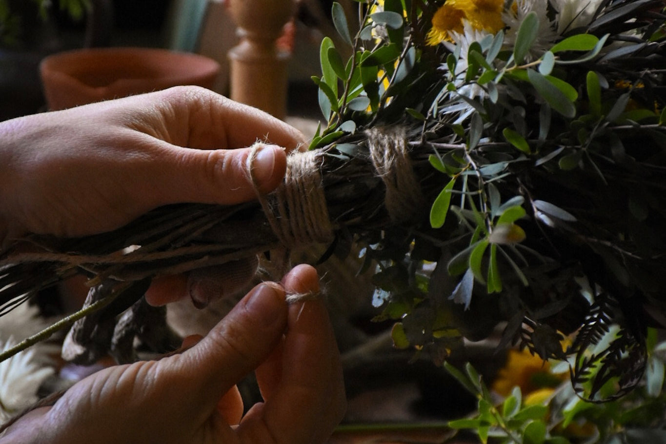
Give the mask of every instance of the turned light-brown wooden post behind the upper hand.
M 275 42 L 292 18 L 296 1 L 227 0 L 227 4 L 240 37 L 229 51 L 231 99 L 284 119 L 290 54 Z

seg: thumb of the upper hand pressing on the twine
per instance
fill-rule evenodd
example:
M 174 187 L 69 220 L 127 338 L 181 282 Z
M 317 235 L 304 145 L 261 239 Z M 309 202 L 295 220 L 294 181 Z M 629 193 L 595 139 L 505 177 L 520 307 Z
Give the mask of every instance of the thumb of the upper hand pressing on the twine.
M 255 144 L 235 150 L 197 150 L 168 146 L 157 169 L 153 188 L 162 204 L 200 202 L 238 204 L 268 193 L 282 181 L 286 171 L 284 148 Z M 248 165 L 248 156 L 252 156 Z M 250 168 L 252 174 L 250 174 Z

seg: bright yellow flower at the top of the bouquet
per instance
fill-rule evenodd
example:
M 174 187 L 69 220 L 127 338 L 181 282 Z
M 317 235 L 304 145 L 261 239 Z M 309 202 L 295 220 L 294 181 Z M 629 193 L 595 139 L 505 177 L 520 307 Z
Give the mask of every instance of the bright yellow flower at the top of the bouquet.
M 496 33 L 504 27 L 501 18 L 504 0 L 448 0 L 432 17 L 428 45 L 451 41 L 450 32 L 462 33 L 463 20 L 476 30 Z

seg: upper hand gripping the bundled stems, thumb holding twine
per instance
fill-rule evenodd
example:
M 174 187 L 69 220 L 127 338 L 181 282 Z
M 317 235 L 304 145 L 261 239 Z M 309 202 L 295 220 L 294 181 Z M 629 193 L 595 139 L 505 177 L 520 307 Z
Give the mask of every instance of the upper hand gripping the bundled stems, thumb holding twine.
M 236 148 L 258 138 L 287 150 L 304 141 L 284 122 L 198 87 L 2 122 L 0 244 L 26 232 L 105 232 L 165 204 L 250 200 L 248 149 Z M 273 190 L 285 168 L 280 148 L 258 153 L 259 190 Z

